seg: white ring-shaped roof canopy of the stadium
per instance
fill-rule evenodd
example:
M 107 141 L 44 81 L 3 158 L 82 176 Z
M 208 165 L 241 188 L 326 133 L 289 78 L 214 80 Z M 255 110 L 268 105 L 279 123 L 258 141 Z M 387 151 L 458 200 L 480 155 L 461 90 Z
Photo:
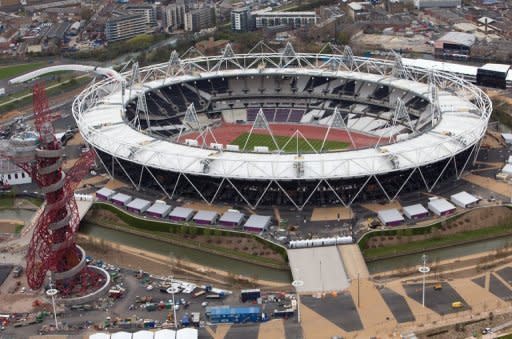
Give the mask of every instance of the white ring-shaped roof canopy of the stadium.
M 184 75 L 168 78 L 165 85 L 208 77 L 240 74 L 322 74 L 324 76 L 361 79 L 363 81 L 389 85 L 406 91 L 413 91 L 419 97 L 428 99 L 428 85 L 411 80 L 396 79 L 387 75 L 329 71 L 326 69 L 245 69 L 222 70 L 200 75 Z M 146 88 L 162 86 L 162 80 L 145 83 Z M 124 97 L 125 103 L 132 98 Z M 261 154 L 242 152 L 212 152 L 210 149 L 190 147 L 150 136 L 133 129 L 123 120 L 119 102 L 121 92 L 115 92 L 102 99 L 96 106 L 82 112 L 78 124 L 89 143 L 109 154 L 164 170 L 208 175 L 212 177 L 242 179 L 318 179 L 360 177 L 393 170 L 414 168 L 453 156 L 469 145 L 476 143 L 487 126 L 487 112 L 461 96 L 441 91 L 439 106 L 442 116 L 431 130 L 400 142 L 386 146 L 385 153 L 375 148 L 347 150 L 342 152 L 303 154 L 304 172 L 298 177 L 294 167 L 295 154 Z M 122 136 L 122 137 L 121 137 Z M 454 137 L 456 136 L 456 137 Z M 136 150 L 136 151 L 134 151 Z M 389 161 L 393 154 L 397 162 Z M 204 172 L 201 163 L 210 159 L 209 171 Z M 398 166 L 397 166 L 398 164 Z

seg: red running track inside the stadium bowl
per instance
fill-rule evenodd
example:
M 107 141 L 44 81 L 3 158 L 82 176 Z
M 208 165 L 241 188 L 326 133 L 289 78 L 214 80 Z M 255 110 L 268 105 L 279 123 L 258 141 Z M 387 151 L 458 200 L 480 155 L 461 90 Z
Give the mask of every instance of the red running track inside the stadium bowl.
M 228 123 L 222 123 L 219 127 L 216 127 L 212 129 L 213 133 L 215 134 L 215 139 L 217 140 L 217 143 L 227 145 L 231 143 L 233 140 L 238 138 L 240 134 L 248 133 L 251 130 L 250 124 L 228 124 Z M 270 129 L 272 130 L 272 133 L 276 136 L 283 136 L 283 137 L 289 137 L 292 136 L 293 133 L 295 133 L 296 130 L 299 130 L 302 135 L 306 139 L 316 139 L 316 140 L 323 140 L 325 133 L 327 132 L 326 126 L 311 126 L 311 125 L 301 125 L 301 124 L 276 124 L 271 123 Z M 255 129 L 256 133 L 264 132 L 264 129 Z M 377 141 L 379 140 L 378 137 L 369 136 L 366 134 L 350 131 L 350 134 L 352 135 L 352 139 L 354 140 L 357 148 L 361 147 L 368 147 L 375 145 Z M 185 139 L 196 139 L 199 136 L 199 133 L 192 132 L 188 134 L 184 134 L 180 137 L 178 142 L 185 142 Z M 348 136 L 348 133 L 345 130 L 340 130 L 333 128 L 329 132 L 329 135 L 327 136 L 327 140 L 329 141 L 343 141 L 348 144 L 350 144 L 350 138 Z M 199 141 L 199 140 L 198 140 Z M 202 140 L 200 140 L 202 142 Z M 206 144 L 210 145 L 210 143 L 215 142 L 213 139 L 213 136 L 211 133 L 207 133 L 206 135 Z M 354 148 L 354 145 L 352 145 L 351 148 Z

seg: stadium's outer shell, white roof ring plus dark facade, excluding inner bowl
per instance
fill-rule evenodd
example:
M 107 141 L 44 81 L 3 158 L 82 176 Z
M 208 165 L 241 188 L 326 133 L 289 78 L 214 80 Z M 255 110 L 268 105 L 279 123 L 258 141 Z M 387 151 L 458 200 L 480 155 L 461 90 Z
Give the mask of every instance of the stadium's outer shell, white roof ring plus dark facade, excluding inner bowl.
M 412 120 L 415 126 L 400 140 L 390 137 L 384 146 L 338 152 L 233 152 L 175 143 L 149 132 L 151 112 L 142 97 L 157 88 L 276 74 L 379 84 L 391 93 L 407 92 L 427 105 L 416 116 L 404 116 L 403 107 L 393 107 L 400 100 L 386 99 L 392 111 L 388 126 L 405 126 Z M 366 101 L 375 103 L 372 100 Z M 129 105 L 136 105 L 136 114 L 140 113 L 131 121 Z M 134 64 L 122 77 L 96 82 L 73 103 L 80 132 L 105 169 L 136 189 L 158 188 L 169 199 L 196 197 L 250 208 L 288 204 L 299 210 L 308 204 L 350 206 L 370 199 L 393 200 L 402 192 L 430 192 L 442 182 L 459 179 L 476 158 L 491 111 L 489 98 L 479 88 L 450 73 L 405 67 L 399 56 L 394 60 L 355 57 L 348 48 L 334 54 L 297 53 L 290 44 L 281 53 L 235 54 L 229 45 L 218 56 L 180 58 L 173 53 L 167 63 L 141 69 Z

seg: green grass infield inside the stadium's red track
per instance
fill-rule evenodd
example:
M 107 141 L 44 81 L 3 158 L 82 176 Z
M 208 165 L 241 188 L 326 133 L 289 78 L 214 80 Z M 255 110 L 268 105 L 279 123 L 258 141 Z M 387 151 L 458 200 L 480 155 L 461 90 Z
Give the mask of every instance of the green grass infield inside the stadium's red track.
M 267 134 L 251 134 L 249 137 L 249 133 L 243 133 L 238 138 L 230 142 L 231 145 L 238 145 L 241 150 L 244 150 L 243 147 L 247 141 L 247 138 L 249 138 L 249 141 L 247 142 L 247 146 L 245 150 L 252 151 L 254 150 L 255 146 L 267 146 L 270 151 L 276 150 L 276 145 L 274 144 L 272 137 Z M 297 152 L 297 149 L 299 152 L 314 152 L 314 151 L 320 151 L 320 148 L 322 147 L 323 140 L 318 139 L 308 139 L 307 141 L 304 140 L 304 138 L 293 138 L 288 142 L 290 137 L 283 137 L 283 136 L 274 136 L 274 139 L 276 140 L 277 145 L 279 148 L 283 149 L 284 152 L 287 153 L 295 153 Z M 288 143 L 287 143 L 288 142 Z M 309 143 L 308 143 L 309 142 Z M 345 149 L 349 146 L 347 142 L 343 141 L 329 141 L 327 140 L 324 145 L 324 151 L 332 151 L 332 150 L 340 150 Z

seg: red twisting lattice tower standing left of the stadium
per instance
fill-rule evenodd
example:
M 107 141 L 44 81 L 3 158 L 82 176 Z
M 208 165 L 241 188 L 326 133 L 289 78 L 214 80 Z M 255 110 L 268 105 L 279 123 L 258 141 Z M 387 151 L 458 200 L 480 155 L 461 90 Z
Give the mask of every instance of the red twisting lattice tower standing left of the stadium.
M 11 160 L 45 196 L 27 254 L 28 285 L 40 288 L 49 271 L 61 296 L 81 297 L 101 288 L 107 279 L 87 266 L 85 252 L 75 243 L 80 218 L 74 190 L 94 163 L 94 153 L 82 154 L 65 173 L 63 148 L 55 138 L 43 83 L 34 86 L 33 108 L 37 133 L 25 132 L 10 140 Z

